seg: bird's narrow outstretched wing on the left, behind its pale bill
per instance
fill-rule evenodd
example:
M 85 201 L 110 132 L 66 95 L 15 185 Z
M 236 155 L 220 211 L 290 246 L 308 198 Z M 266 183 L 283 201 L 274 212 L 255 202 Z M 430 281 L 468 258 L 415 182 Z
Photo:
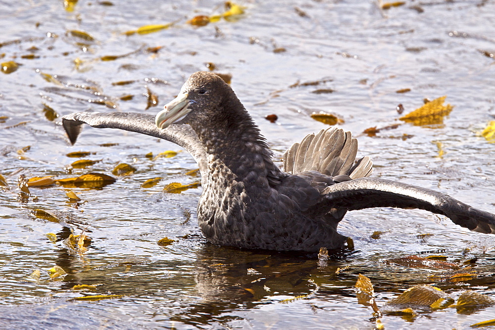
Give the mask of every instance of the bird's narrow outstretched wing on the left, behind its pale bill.
M 63 128 L 72 144 L 76 142 L 81 133 L 82 124 L 96 128 L 117 128 L 174 142 L 193 156 L 201 174 L 207 169 L 203 146 L 194 130 L 187 124 L 170 125 L 161 130 L 156 127 L 155 118 L 152 115 L 135 112 L 77 112 L 62 117 Z

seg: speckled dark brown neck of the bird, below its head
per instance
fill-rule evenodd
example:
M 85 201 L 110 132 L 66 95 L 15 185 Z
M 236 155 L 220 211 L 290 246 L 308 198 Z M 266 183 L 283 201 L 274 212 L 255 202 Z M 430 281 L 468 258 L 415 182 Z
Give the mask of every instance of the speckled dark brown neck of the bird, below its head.
M 221 173 L 227 180 L 242 180 L 258 188 L 280 183 L 283 172 L 273 163 L 265 138 L 237 97 L 227 99 L 204 120 L 209 122 L 193 128 L 207 154 L 210 175 Z

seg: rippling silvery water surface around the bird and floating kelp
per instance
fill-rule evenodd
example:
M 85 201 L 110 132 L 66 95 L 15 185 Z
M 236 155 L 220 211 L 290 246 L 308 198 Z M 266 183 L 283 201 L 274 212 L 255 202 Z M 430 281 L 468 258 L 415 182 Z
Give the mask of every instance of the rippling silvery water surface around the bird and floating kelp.
M 493 1 L 407 1 L 389 10 L 369 1 L 265 2 L 242 2 L 245 14 L 238 19 L 199 28 L 186 20 L 224 11 L 221 1 L 136 0 L 109 6 L 80 0 L 73 11 L 65 10 L 63 1 L 0 2 L 0 61 L 22 64 L 15 72 L 0 73 L 0 117 L 7 117 L 0 120 L 0 174 L 10 187 L 0 190 L 3 325 L 371 329 L 372 310 L 356 299 L 358 274 L 371 279 L 379 307 L 416 284 L 433 283 L 453 298 L 465 289 L 495 296 L 494 238 L 423 211 L 348 213 L 340 231 L 353 238 L 356 250 L 341 251 L 323 265 L 314 256 L 211 245 L 196 221 L 200 188 L 162 192 L 170 182 L 198 181 L 185 175 L 196 168 L 186 152 L 150 160 L 149 152 L 179 148 L 90 127 L 70 146 L 60 118 L 50 121 L 45 115 L 43 104 L 59 116 L 76 111 L 155 114 L 191 73 L 214 63 L 215 72 L 232 74 L 231 86 L 277 157 L 306 134 L 327 127 L 309 114 L 331 112 L 359 138 L 360 155 L 372 157 L 374 176 L 440 190 L 495 213 L 495 147 L 476 135 L 495 113 L 494 59 L 482 53 L 495 51 Z M 170 22 L 176 23 L 156 33 L 122 34 Z M 73 30 L 94 40 L 74 36 Z M 161 48 L 155 53 L 149 47 Z M 285 51 L 274 52 L 282 47 Z M 29 54 L 36 58 L 22 57 Z M 116 55 L 125 56 L 100 60 Z M 327 82 L 290 87 L 322 80 Z M 122 81 L 132 83 L 114 84 Z M 334 92 L 312 93 L 320 88 Z M 411 91 L 396 93 L 405 88 Z M 158 103 L 145 110 L 148 89 Z M 124 101 L 124 95 L 134 96 Z M 443 125 L 402 124 L 375 138 L 361 134 L 369 127 L 401 123 L 399 103 L 408 113 L 423 98 L 443 95 L 454 105 Z M 107 105 L 95 102 L 99 99 Z M 264 119 L 268 114 L 278 115 L 275 124 Z M 404 134 L 412 137 L 402 139 Z M 443 157 L 436 141 L 443 145 Z M 30 149 L 18 152 L 26 146 Z M 80 150 L 94 152 L 84 158 L 99 162 L 68 174 L 68 165 L 81 158 L 66 154 Z M 18 198 L 20 174 L 112 175 L 119 162 L 133 165 L 136 173 L 101 189 L 72 189 L 82 199 L 77 208 L 62 187 L 30 188 L 33 196 Z M 164 179 L 140 188 L 154 177 Z M 71 221 L 64 226 L 40 219 L 32 215 L 35 209 L 64 211 Z M 91 237 L 88 251 L 77 253 L 64 245 L 69 228 Z M 371 238 L 376 231 L 384 233 Z M 58 240 L 50 242 L 48 233 Z M 433 235 L 418 236 L 423 234 Z M 158 245 L 165 236 L 176 241 Z M 431 282 L 429 275 L 443 272 L 385 262 L 439 253 L 450 262 L 477 257 L 478 277 Z M 47 271 L 54 265 L 69 274 L 50 280 Z M 337 268 L 345 269 L 336 274 Z M 42 270 L 40 281 L 27 281 L 36 269 Z M 81 296 L 71 290 L 75 284 L 97 285 L 93 293 L 123 297 L 69 300 Z M 283 302 L 294 297 L 299 298 Z M 386 315 L 381 322 L 389 329 L 463 329 L 494 314 L 494 306 L 469 312 L 446 308 L 413 319 Z

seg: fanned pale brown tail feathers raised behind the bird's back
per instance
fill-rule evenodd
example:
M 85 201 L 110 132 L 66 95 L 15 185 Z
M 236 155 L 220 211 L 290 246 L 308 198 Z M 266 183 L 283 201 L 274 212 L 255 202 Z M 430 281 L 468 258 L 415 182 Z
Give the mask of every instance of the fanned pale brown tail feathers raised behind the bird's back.
M 284 153 L 284 170 L 290 174 L 317 171 L 331 177 L 348 175 L 351 179 L 370 176 L 370 158 L 363 157 L 354 164 L 356 154 L 357 140 L 350 132 L 330 127 L 293 144 Z

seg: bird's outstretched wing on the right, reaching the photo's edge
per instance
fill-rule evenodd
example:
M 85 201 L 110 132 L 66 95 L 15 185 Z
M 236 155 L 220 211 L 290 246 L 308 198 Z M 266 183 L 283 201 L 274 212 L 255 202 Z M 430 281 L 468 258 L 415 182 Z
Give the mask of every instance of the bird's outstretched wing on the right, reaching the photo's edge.
M 478 210 L 447 194 L 400 182 L 361 178 L 338 183 L 323 190 L 319 206 L 337 210 L 371 207 L 417 208 L 443 214 L 453 223 L 474 232 L 495 234 L 495 215 Z

